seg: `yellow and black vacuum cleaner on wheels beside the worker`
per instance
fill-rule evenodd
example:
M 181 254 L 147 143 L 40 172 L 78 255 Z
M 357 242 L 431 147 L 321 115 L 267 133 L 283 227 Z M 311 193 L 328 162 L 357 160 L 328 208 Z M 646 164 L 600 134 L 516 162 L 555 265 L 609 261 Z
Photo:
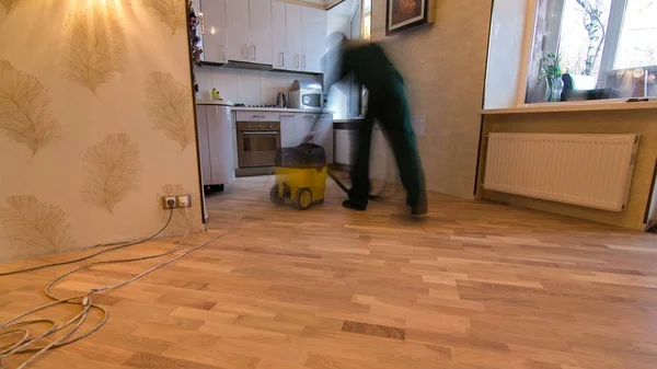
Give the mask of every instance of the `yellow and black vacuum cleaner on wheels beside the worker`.
M 292 200 L 301 210 L 323 203 L 326 172 L 323 147 L 303 142 L 293 148 L 280 148 L 276 151 L 276 184 L 269 192 L 269 199 L 276 205 Z

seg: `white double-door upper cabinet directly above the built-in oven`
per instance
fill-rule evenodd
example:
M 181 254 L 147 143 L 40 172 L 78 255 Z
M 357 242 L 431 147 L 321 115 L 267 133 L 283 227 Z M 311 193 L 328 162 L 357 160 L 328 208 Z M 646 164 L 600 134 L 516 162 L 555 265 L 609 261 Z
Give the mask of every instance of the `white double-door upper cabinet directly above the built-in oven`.
M 227 59 L 270 65 L 272 0 L 223 1 L 228 20 Z M 207 22 L 205 14 L 204 18 Z

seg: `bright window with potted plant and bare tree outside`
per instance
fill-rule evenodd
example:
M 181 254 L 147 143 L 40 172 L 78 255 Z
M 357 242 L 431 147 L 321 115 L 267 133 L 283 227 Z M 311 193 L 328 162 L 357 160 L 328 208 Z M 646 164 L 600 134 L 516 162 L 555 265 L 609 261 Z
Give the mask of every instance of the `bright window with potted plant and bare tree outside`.
M 539 0 L 527 103 L 657 96 L 657 0 Z

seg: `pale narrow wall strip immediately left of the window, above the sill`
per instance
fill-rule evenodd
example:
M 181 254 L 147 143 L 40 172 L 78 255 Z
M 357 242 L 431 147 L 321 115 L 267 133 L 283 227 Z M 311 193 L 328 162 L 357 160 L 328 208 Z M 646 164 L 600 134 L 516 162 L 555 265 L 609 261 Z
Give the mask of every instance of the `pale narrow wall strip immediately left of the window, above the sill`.
M 485 108 L 516 106 L 529 0 L 496 0 L 493 5 Z

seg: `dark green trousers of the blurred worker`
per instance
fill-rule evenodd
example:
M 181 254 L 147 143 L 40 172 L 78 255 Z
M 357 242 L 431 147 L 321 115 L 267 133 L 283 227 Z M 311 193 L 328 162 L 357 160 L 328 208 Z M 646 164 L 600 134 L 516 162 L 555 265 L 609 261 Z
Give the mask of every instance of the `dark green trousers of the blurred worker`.
M 356 205 L 367 206 L 371 188 L 370 147 L 372 128 L 377 120 L 396 161 L 402 184 L 406 189 L 406 204 L 413 209 L 419 205 L 426 206 L 424 171 L 411 125 L 411 109 L 404 85 L 402 82 L 395 82 L 389 91 L 369 91 L 369 94 L 368 111 L 358 130 L 355 147 L 349 199 Z

